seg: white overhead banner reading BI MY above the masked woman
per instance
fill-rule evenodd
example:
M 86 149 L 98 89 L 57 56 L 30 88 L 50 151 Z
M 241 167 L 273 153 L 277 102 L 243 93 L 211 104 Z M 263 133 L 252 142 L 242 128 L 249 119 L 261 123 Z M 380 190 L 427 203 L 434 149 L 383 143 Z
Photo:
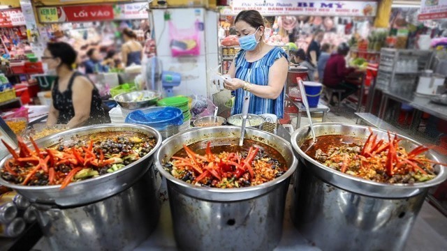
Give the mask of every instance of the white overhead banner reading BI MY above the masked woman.
M 376 1 L 312 1 L 312 0 L 233 0 L 222 15 L 237 15 L 242 10 L 258 10 L 261 15 L 321 15 L 374 17 Z

